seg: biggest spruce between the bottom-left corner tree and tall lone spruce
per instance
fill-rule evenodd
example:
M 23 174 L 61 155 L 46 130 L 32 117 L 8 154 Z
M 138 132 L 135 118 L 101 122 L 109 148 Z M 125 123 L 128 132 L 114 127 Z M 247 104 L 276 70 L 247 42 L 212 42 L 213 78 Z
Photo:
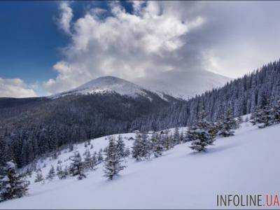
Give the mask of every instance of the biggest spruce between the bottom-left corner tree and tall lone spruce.
M 86 177 L 83 173 L 82 158 L 80 158 L 80 153 L 78 151 L 75 151 L 73 156 L 71 156 L 71 165 L 69 168 L 69 172 L 71 176 L 78 176 L 78 179 L 83 179 Z

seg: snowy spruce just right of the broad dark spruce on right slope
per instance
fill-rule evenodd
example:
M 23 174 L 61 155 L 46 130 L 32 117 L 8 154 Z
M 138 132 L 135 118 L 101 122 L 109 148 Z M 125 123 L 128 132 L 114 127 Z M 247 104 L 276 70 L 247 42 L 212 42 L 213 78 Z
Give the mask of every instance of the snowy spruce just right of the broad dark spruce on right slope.
M 218 135 L 221 137 L 230 137 L 235 134 L 235 129 L 237 129 L 237 120 L 232 116 L 232 109 L 228 109 L 223 119 L 221 121 L 221 130 L 219 130 Z

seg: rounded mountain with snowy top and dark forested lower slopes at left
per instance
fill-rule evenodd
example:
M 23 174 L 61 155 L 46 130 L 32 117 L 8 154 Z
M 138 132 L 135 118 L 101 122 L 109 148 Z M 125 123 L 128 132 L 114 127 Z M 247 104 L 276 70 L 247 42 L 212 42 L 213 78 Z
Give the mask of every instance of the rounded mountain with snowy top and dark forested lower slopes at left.
M 113 77 L 52 97 L 0 99 L 0 165 L 9 154 L 22 167 L 71 142 L 131 131 L 137 118 L 176 102 Z

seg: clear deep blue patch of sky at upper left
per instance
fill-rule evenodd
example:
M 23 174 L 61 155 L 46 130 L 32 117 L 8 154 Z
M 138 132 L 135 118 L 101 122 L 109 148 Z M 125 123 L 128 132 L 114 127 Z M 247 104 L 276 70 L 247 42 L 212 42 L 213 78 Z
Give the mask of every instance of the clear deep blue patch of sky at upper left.
M 59 59 L 66 37 L 57 29 L 55 15 L 54 1 L 0 3 L 1 77 L 34 83 L 56 76 L 52 65 Z

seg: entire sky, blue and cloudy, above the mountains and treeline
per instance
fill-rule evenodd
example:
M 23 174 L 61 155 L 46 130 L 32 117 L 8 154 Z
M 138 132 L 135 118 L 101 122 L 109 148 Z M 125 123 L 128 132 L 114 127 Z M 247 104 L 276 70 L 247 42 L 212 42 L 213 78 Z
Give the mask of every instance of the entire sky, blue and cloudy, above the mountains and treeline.
M 279 1 L 0 1 L 0 97 L 279 59 Z M 63 52 L 62 52 L 63 49 Z

